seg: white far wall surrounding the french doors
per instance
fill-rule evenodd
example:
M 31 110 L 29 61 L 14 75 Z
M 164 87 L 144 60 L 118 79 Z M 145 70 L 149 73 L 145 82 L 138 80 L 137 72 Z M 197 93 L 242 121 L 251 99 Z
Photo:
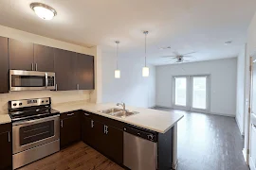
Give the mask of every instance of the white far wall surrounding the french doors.
M 173 76 L 210 75 L 210 112 L 235 116 L 237 59 L 156 66 L 156 106 L 173 107 Z

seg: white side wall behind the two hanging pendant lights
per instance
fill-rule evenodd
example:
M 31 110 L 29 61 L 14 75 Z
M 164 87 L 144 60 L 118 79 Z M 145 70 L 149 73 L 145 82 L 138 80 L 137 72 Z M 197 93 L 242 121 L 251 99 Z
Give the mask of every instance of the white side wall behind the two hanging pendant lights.
M 114 77 L 116 54 L 102 53 L 102 102 L 125 102 L 127 105 L 155 106 L 155 66 L 150 76 L 142 77 L 143 58 L 122 58 L 119 55 L 120 78 Z

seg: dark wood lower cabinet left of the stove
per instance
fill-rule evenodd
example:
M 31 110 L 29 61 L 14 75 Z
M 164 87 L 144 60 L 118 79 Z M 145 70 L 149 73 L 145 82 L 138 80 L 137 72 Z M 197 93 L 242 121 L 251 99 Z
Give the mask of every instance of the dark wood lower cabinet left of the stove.
M 11 124 L 0 125 L 0 170 L 12 169 Z

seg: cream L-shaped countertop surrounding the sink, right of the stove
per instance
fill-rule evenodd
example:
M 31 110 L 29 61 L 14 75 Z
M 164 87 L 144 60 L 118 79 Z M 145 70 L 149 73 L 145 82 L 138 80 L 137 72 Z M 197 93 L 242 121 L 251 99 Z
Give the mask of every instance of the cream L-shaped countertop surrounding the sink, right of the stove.
M 85 110 L 137 127 L 147 128 L 159 133 L 167 132 L 170 128 L 174 127 L 174 125 L 184 116 L 181 113 L 174 113 L 172 111 L 170 112 L 163 110 L 153 110 L 126 106 L 126 110 L 138 111 L 139 113 L 125 118 L 120 118 L 99 112 L 99 110 L 120 108 L 117 107 L 114 103 L 95 104 L 88 103 L 85 101 L 59 104 L 57 106 L 53 106 L 52 108 L 54 110 L 59 110 L 61 113 L 73 110 Z

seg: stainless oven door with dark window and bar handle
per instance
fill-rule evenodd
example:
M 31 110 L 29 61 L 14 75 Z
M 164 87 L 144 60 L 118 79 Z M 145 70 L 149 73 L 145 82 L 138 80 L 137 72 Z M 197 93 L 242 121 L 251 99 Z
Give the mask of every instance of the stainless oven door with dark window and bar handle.
M 59 139 L 60 115 L 12 124 L 13 154 Z

